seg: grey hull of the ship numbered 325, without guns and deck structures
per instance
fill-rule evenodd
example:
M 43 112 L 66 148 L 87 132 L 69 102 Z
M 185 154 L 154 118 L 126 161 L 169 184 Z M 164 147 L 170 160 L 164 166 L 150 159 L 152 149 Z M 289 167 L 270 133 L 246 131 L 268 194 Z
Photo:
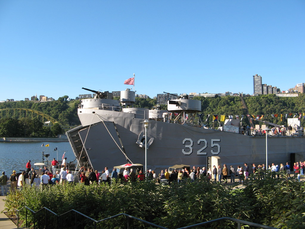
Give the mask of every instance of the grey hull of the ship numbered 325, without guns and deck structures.
M 145 148 L 137 144 L 145 134 L 141 122 L 145 113 L 79 109 L 82 126 L 67 132 L 77 158 L 86 158 L 94 169 L 122 165 L 127 162 L 145 164 Z M 149 120 L 147 140 L 147 168 L 166 169 L 176 164 L 213 165 L 266 164 L 265 136 L 245 136 L 192 125 Z M 142 137 L 142 139 L 144 136 Z M 75 141 L 75 139 L 79 139 Z M 81 142 L 81 144 L 80 144 Z M 78 146 L 77 146 L 77 144 Z M 293 163 L 304 158 L 305 138 L 271 136 L 267 138 L 267 163 Z M 78 150 L 77 150 L 78 147 Z M 80 147 L 82 150 L 80 150 Z M 293 158 L 293 159 L 292 159 Z

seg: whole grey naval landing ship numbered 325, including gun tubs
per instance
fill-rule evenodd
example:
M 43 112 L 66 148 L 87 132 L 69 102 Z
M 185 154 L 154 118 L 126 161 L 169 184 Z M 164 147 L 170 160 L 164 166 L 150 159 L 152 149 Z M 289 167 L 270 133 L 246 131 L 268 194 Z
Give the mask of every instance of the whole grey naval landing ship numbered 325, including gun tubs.
M 83 88 L 85 89 L 85 88 Z M 89 164 L 101 171 L 126 163 L 145 163 L 147 169 L 172 165 L 196 167 L 266 164 L 266 137 L 240 134 L 237 120 L 226 120 L 224 131 L 207 128 L 200 119 L 201 101 L 186 94 L 167 102 L 167 111 L 133 107 L 135 92 L 121 91 L 120 101 L 109 92 L 83 99 L 78 108 L 81 125 L 66 132 L 78 166 Z M 239 121 L 237 121 L 239 123 Z M 267 163 L 285 165 L 304 160 L 305 138 L 267 137 Z

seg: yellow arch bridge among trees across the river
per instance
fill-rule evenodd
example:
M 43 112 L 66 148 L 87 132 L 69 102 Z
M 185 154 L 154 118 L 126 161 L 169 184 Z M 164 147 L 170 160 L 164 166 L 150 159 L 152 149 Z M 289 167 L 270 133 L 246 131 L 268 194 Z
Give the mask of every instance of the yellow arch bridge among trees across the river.
M 52 118 L 51 116 L 42 113 L 41 111 L 36 111 L 33 109 L 28 108 L 6 108 L 6 109 L 0 109 L 0 118 L 39 118 L 39 116 L 42 117 L 42 122 L 45 124 L 45 122 L 52 122 L 59 123 L 56 119 Z M 59 125 L 63 126 L 59 123 Z

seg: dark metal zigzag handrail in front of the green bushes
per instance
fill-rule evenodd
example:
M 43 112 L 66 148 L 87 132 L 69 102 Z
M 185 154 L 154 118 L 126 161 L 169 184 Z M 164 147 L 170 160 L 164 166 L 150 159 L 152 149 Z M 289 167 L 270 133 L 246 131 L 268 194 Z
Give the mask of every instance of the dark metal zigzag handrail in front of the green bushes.
M 29 209 L 34 215 L 36 213 L 38 213 L 39 211 L 45 209 L 45 226 L 47 227 L 47 211 L 49 211 L 50 213 L 52 213 L 53 215 L 56 216 L 56 229 L 58 229 L 58 220 L 59 220 L 59 217 L 60 216 L 63 216 L 67 213 L 70 213 L 70 212 L 74 212 L 75 213 L 75 225 L 76 224 L 76 220 L 77 220 L 77 217 L 76 217 L 76 213 L 81 215 L 81 216 L 84 216 L 85 218 L 93 221 L 93 224 L 94 224 L 94 228 L 96 228 L 96 224 L 100 223 L 100 222 L 103 222 L 103 221 L 106 221 L 106 220 L 110 220 L 110 219 L 113 219 L 113 218 L 117 218 L 119 216 L 126 216 L 127 218 L 127 229 L 130 228 L 130 219 L 134 219 L 134 220 L 137 220 L 137 221 L 140 221 L 144 224 L 148 224 L 150 226 L 153 226 L 153 227 L 157 227 L 157 228 L 162 228 L 162 229 L 168 229 L 167 227 L 162 227 L 160 225 L 157 225 L 157 224 L 153 224 L 153 223 L 150 223 L 146 220 L 142 220 L 142 219 L 139 219 L 137 217 L 134 217 L 134 216 L 131 216 L 131 215 L 128 215 L 126 213 L 120 213 L 120 214 L 117 214 L 115 216 L 110 216 L 108 218 L 105 218 L 105 219 L 102 219 L 102 220 L 95 220 L 89 216 L 86 216 L 85 214 L 77 211 L 77 210 L 74 210 L 74 209 L 71 209 L 63 214 L 56 214 L 55 212 L 53 212 L 52 210 L 46 208 L 46 207 L 43 207 L 41 209 L 39 209 L 38 211 L 34 212 L 32 209 L 30 209 L 29 207 L 27 207 L 26 205 L 23 206 L 21 209 L 16 209 L 16 212 L 17 212 L 17 228 L 19 228 L 19 211 L 21 211 L 23 208 L 26 209 L 26 227 L 27 227 L 27 209 Z M 216 223 L 216 222 L 220 222 L 220 221 L 224 221 L 224 220 L 229 220 L 229 221 L 233 221 L 233 222 L 237 222 L 237 228 L 240 229 L 241 228 L 241 224 L 245 224 L 245 225 L 249 225 L 249 226 L 253 226 L 253 227 L 258 227 L 258 228 L 264 228 L 264 229 L 278 229 L 276 227 L 270 227 L 270 226 L 266 226 L 266 225 L 262 225 L 262 224 L 257 224 L 257 223 L 252 223 L 252 222 L 249 222 L 249 221 L 245 221 L 245 220 L 239 220 L 239 219 L 235 219 L 235 218 L 231 218 L 231 217 L 222 217 L 222 218 L 218 218 L 218 219 L 215 219 L 215 220 L 210 220 L 210 221 L 206 221 L 206 222 L 203 222 L 203 223 L 199 223 L 199 224 L 193 224 L 193 225 L 190 225 L 190 226 L 186 226 L 186 227 L 179 227 L 177 229 L 188 229 L 188 228 L 192 228 L 192 227 L 199 227 L 199 226 L 203 226 L 203 225 L 208 225 L 208 224 L 212 224 L 212 223 Z M 77 226 L 76 226 L 77 227 Z M 35 222 L 33 223 L 33 228 L 35 228 Z

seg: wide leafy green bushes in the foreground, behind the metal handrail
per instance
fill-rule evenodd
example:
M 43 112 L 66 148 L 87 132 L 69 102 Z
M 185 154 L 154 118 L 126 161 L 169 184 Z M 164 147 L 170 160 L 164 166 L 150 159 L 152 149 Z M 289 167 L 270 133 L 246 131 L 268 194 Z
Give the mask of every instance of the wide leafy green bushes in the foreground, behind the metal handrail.
M 288 178 L 264 180 L 256 175 L 243 189 L 206 181 L 172 183 L 170 186 L 153 182 L 135 182 L 85 186 L 66 184 L 49 186 L 45 189 L 25 187 L 10 194 L 5 200 L 5 210 L 13 211 L 27 205 L 38 211 L 46 207 L 57 214 L 75 209 L 96 220 L 120 213 L 158 224 L 167 228 L 185 227 L 220 217 L 265 224 L 278 228 L 305 228 L 304 182 Z M 21 217 L 24 219 L 24 212 Z M 49 214 L 48 214 L 49 215 Z M 62 228 L 74 226 L 74 213 L 59 218 Z M 44 225 L 43 214 L 31 217 L 29 222 Z M 39 222 L 41 220 L 41 222 Z M 50 215 L 50 226 L 56 225 Z M 93 223 L 77 216 L 78 228 L 93 228 Z M 39 224 L 38 224 L 39 223 Z M 214 223 L 206 228 L 236 228 L 236 223 Z M 41 226 L 42 228 L 43 226 Z M 121 216 L 103 221 L 97 228 L 126 228 L 126 217 Z M 142 222 L 131 220 L 131 228 L 152 228 Z M 249 228 L 249 226 L 242 226 Z

